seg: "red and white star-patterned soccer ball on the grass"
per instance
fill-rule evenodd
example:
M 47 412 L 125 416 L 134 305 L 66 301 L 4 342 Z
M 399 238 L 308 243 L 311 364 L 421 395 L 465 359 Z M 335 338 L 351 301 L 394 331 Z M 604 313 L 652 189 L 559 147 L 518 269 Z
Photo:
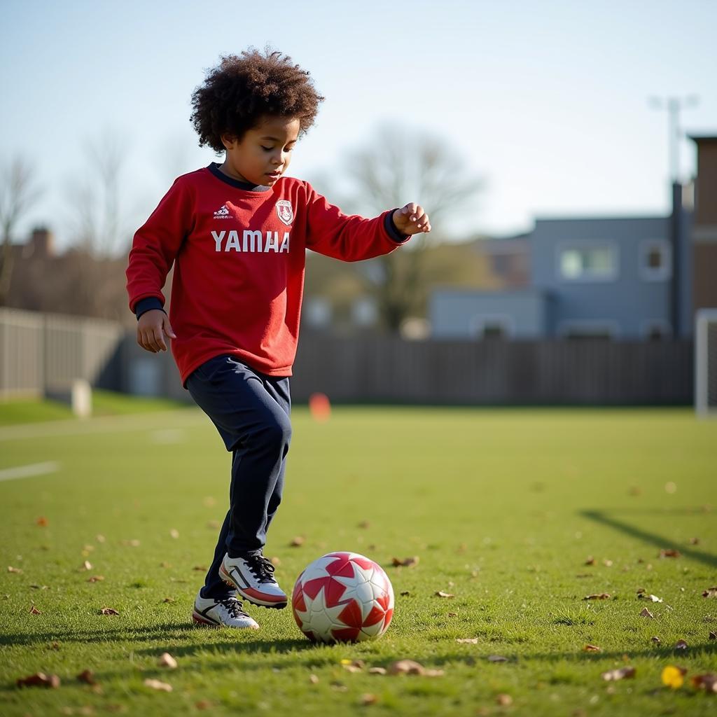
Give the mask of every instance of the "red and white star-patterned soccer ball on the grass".
M 376 640 L 394 613 L 394 589 L 384 570 L 358 553 L 328 553 L 296 579 L 291 607 L 312 642 Z

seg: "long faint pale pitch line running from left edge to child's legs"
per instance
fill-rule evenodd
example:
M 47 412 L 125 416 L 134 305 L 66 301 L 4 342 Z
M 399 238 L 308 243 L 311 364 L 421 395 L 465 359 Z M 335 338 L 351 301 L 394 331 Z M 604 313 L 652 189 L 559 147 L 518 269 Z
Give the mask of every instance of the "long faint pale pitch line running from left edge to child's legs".
M 47 421 L 0 428 L 0 441 L 72 436 L 88 433 L 116 433 L 125 431 L 145 432 L 169 427 L 191 427 L 205 424 L 211 426 L 199 409 L 157 411 L 147 414 L 103 416 L 100 418 Z

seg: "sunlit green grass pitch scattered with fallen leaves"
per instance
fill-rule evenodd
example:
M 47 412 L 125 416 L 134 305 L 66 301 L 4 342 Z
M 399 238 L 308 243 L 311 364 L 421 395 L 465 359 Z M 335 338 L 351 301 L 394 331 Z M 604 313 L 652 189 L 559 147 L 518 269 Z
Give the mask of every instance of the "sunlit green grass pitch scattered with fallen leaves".
M 52 472 L 0 482 L 0 714 L 715 713 L 717 695 L 689 678 L 717 672 L 717 599 L 702 597 L 717 585 L 717 422 L 686 409 L 340 407 L 318 424 L 298 407 L 293 423 L 266 553 L 285 589 L 328 551 L 383 564 L 397 606 L 381 640 L 314 647 L 290 609 L 249 607 L 258 632 L 191 625 L 229 471 L 200 412 L 6 426 L 0 477 Z M 162 652 L 176 670 L 158 667 Z M 444 675 L 368 674 L 404 657 Z M 626 665 L 635 678 L 602 680 Z M 661 683 L 667 665 L 687 668 L 681 688 Z M 76 679 L 85 669 L 98 685 Z M 15 686 L 38 671 L 60 688 Z

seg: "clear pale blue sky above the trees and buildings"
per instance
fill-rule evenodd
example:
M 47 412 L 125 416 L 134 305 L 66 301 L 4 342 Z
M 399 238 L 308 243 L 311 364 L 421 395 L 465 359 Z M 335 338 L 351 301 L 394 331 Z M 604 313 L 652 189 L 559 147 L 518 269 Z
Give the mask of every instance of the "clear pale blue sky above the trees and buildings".
M 196 145 L 191 91 L 219 54 L 250 45 L 290 54 L 326 96 L 290 174 L 341 171 L 386 120 L 432 130 L 487 181 L 466 218 L 476 233 L 667 212 L 667 116 L 648 95 L 696 93 L 683 126 L 717 133 L 712 0 L 4 0 L 1 19 L 0 159 L 34 163 L 44 194 L 23 226 L 49 224 L 60 244 L 87 141 L 125 139 L 134 228 L 174 176 L 216 158 Z M 681 149 L 690 176 L 693 147 Z

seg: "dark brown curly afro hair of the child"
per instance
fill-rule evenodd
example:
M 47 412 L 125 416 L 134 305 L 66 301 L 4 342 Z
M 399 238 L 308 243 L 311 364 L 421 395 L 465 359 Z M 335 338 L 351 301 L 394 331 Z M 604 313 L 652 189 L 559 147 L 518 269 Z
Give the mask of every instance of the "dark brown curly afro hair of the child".
M 323 97 L 308 72 L 293 65 L 288 55 L 259 52 L 250 47 L 241 57 L 224 55 L 191 95 L 191 123 L 199 146 L 224 151 L 222 135 L 241 139 L 263 116 L 297 118 L 299 136 L 313 125 Z

